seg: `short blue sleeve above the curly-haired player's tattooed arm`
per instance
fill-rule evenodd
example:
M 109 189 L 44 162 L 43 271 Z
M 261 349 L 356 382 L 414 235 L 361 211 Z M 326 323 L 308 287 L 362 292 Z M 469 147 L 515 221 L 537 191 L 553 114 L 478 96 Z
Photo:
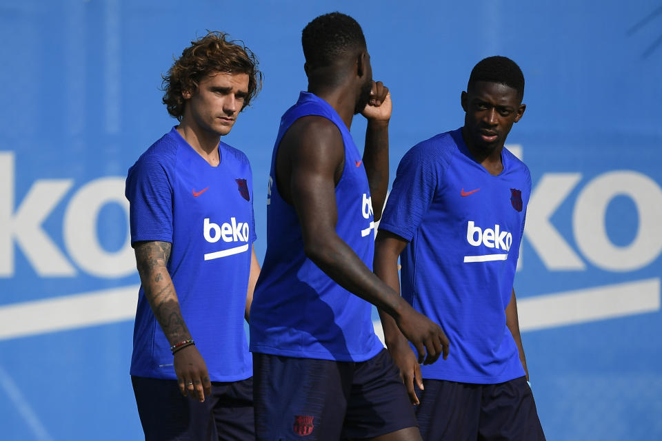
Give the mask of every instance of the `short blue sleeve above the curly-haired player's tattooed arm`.
M 172 186 L 163 165 L 139 159 L 129 169 L 125 196 L 130 206 L 131 244 L 141 240 L 172 243 Z

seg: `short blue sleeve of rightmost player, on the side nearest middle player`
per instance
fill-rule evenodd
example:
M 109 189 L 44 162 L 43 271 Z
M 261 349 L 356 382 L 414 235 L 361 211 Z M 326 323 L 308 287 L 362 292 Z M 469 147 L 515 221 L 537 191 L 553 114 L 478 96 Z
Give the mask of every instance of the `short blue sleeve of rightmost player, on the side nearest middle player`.
M 388 196 L 379 229 L 411 241 L 434 199 L 439 167 L 425 145 L 403 156 Z

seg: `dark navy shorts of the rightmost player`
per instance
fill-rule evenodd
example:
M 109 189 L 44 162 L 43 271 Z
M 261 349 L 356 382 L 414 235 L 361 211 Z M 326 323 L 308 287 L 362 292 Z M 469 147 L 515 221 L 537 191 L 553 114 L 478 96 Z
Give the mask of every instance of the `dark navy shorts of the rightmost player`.
M 545 440 L 525 377 L 499 384 L 423 379 L 416 415 L 423 440 Z

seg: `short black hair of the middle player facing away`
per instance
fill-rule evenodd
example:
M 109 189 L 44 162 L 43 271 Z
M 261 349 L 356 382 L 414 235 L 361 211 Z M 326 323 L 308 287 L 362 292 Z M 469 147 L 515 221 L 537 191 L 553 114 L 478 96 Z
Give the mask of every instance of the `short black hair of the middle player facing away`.
M 303 56 L 309 68 L 331 65 L 348 50 L 365 49 L 363 30 L 356 20 L 340 12 L 320 15 L 301 32 Z

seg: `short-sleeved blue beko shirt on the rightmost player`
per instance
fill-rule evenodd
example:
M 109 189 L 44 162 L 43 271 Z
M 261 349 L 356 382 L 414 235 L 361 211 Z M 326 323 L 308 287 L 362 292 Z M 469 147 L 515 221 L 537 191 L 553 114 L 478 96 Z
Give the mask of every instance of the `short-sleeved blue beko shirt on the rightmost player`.
M 423 378 L 498 383 L 524 375 L 505 324 L 531 175 L 505 148 L 492 176 L 474 161 L 461 129 L 423 141 L 398 167 L 379 229 L 409 241 L 401 291 L 450 340 L 448 360 Z

